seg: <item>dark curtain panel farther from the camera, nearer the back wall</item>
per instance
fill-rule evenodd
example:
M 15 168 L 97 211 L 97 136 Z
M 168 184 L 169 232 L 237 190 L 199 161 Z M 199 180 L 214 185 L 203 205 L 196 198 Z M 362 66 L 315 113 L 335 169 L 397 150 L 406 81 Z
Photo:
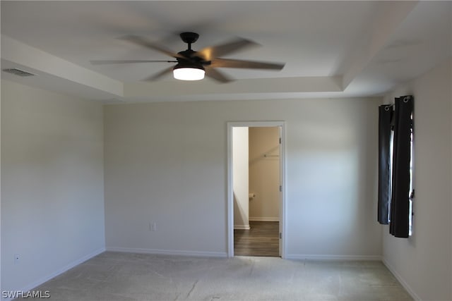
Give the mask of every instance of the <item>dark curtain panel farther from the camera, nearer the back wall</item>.
M 389 204 L 391 198 L 391 119 L 393 106 L 379 106 L 379 200 L 378 221 L 389 223 Z

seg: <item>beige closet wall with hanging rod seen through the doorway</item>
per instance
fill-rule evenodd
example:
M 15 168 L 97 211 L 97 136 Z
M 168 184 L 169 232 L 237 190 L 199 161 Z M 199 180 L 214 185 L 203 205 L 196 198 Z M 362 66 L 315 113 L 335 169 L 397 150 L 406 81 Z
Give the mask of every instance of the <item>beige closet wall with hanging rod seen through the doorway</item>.
M 251 221 L 280 218 L 280 128 L 249 128 L 249 202 Z M 264 156 L 268 155 L 268 156 Z

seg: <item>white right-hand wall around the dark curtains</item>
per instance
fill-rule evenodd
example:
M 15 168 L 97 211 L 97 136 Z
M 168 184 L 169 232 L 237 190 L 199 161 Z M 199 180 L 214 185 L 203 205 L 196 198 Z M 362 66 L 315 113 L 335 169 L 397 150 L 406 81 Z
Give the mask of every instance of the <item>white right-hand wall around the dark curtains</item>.
M 452 300 L 452 61 L 400 85 L 385 97 L 415 97 L 413 235 L 383 229 L 383 260 L 417 300 Z

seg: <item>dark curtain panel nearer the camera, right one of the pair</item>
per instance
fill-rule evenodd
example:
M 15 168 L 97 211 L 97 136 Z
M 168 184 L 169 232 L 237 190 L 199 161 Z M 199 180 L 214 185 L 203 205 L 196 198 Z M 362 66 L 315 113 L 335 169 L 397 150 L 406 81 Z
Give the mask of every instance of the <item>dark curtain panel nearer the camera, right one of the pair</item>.
M 398 238 L 408 238 L 413 98 L 412 96 L 398 97 L 395 105 L 389 233 Z

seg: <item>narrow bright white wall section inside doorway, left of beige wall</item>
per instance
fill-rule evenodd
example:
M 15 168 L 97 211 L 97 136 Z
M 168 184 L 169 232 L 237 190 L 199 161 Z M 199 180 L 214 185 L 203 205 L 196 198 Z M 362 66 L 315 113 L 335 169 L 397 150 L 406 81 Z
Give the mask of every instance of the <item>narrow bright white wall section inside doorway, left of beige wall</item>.
M 234 228 L 249 229 L 248 128 L 232 128 Z

